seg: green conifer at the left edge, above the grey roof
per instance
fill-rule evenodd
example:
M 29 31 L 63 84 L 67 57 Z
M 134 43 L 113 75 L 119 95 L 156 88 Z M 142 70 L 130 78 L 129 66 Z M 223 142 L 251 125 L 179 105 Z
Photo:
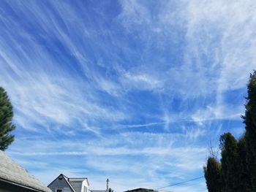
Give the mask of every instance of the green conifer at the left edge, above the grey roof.
M 7 92 L 0 87 L 0 150 L 6 150 L 14 140 L 14 136 L 9 134 L 15 129 L 12 124 L 12 117 L 12 104 Z

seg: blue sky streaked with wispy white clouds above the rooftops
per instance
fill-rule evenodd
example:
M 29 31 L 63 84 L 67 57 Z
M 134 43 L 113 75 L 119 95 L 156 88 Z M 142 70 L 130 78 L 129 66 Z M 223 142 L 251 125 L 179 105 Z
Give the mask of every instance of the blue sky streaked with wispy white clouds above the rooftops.
M 203 175 L 244 131 L 255 1 L 0 1 L 7 154 L 48 185 L 159 188 Z M 206 191 L 204 179 L 168 191 Z

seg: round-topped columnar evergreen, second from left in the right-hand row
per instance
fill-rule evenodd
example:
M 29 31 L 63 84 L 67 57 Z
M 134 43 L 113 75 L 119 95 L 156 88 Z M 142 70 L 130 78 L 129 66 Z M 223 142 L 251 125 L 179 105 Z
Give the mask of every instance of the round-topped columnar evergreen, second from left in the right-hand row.
M 237 191 L 238 180 L 238 145 L 235 137 L 232 134 L 226 133 L 220 137 L 220 149 L 222 150 L 222 189 L 225 192 Z

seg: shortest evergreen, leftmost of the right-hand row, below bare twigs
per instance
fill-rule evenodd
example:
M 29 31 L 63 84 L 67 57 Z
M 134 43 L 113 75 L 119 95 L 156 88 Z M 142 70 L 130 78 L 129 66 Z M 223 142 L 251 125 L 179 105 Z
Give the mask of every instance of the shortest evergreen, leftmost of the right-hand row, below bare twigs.
M 221 192 L 221 164 L 214 157 L 209 157 L 207 166 L 203 167 L 208 192 Z

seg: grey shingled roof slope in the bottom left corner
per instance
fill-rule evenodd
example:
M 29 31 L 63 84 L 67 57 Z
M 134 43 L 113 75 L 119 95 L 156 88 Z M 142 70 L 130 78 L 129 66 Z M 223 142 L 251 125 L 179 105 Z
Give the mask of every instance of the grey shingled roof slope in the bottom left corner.
M 12 185 L 29 188 L 38 192 L 52 192 L 45 187 L 34 175 L 13 161 L 3 151 L 0 150 L 0 180 Z

